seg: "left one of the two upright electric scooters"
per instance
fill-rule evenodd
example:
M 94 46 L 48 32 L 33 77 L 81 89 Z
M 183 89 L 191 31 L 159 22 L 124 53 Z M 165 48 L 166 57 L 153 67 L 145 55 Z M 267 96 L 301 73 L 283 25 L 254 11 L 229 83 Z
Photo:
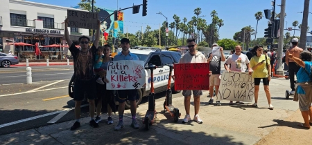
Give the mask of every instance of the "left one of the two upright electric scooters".
M 145 124 L 145 129 L 148 131 L 150 126 L 153 125 L 154 119 L 156 116 L 155 110 L 155 93 L 154 93 L 154 74 L 153 71 L 156 68 L 162 68 L 162 66 L 155 66 L 153 64 L 149 64 L 146 69 L 150 70 L 150 94 L 148 95 L 148 110 L 146 111 L 146 115 L 143 119 L 143 124 Z

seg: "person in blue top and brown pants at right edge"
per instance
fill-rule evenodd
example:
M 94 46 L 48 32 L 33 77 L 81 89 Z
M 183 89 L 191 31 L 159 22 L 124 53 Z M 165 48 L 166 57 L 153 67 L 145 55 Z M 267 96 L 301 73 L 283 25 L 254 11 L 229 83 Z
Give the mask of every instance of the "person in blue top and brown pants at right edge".
M 295 57 L 295 52 L 288 51 L 286 54 L 288 59 L 291 59 L 301 67 L 297 72 L 298 86 L 295 90 L 295 97 L 293 99 L 294 101 L 299 100 L 299 108 L 304 119 L 304 124 L 298 124 L 298 126 L 310 129 L 312 125 L 312 54 L 307 50 L 300 53 L 300 58 Z

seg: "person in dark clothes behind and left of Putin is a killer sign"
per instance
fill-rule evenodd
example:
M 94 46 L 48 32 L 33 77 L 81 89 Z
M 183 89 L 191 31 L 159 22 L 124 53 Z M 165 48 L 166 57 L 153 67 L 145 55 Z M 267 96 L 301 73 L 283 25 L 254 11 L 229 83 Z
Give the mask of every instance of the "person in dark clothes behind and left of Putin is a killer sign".
M 110 57 L 110 52 L 111 52 L 111 47 L 110 45 L 105 45 L 103 47 L 103 62 L 101 65 L 101 68 L 106 71 L 107 70 L 107 66 L 108 63 L 110 61 L 112 61 L 112 58 Z M 102 82 L 103 79 L 106 79 L 106 77 L 102 78 Z M 106 79 L 105 81 L 106 83 L 108 83 L 108 80 Z M 113 120 L 112 120 L 112 111 L 116 111 L 115 109 L 115 102 L 114 102 L 114 90 L 107 90 L 106 89 L 106 83 L 104 84 L 96 84 L 96 93 L 97 93 L 97 99 L 96 99 L 96 117 L 95 117 L 95 121 L 96 123 L 101 122 L 101 110 L 102 110 L 102 104 L 108 104 L 107 105 L 107 113 L 108 113 L 108 117 L 107 117 L 107 124 L 113 124 Z

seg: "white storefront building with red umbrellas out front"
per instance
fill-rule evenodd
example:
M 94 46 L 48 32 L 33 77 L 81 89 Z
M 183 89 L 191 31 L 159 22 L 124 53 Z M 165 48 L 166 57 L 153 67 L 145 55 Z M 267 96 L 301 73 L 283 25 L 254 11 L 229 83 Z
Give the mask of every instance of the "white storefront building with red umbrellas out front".
M 24 0 L 1 0 L 0 52 L 8 53 L 11 50 L 15 55 L 20 55 L 19 59 L 29 59 L 29 55 L 33 55 L 31 59 L 45 59 L 50 55 L 59 55 L 60 59 L 62 55 L 70 55 L 68 47 L 44 47 L 52 44 L 67 46 L 64 19 L 67 18 L 68 9 L 80 10 Z M 69 35 L 74 42 L 78 42 L 82 35 L 89 35 L 89 30 L 69 28 Z M 16 46 L 19 42 L 27 44 Z M 40 57 L 35 57 L 36 43 L 39 43 L 42 52 Z

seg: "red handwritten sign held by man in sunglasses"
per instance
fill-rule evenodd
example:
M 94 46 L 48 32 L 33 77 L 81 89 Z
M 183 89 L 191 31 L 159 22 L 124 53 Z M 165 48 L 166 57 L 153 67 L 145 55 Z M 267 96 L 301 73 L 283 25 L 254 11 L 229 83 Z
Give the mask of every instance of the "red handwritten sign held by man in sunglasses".
M 209 64 L 175 64 L 175 90 L 209 90 Z

